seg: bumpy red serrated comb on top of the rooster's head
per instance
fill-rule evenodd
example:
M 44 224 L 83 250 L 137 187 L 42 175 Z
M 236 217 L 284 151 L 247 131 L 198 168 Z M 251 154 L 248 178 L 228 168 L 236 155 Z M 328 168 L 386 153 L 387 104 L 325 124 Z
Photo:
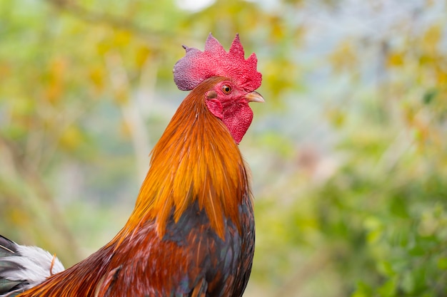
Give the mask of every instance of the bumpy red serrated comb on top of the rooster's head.
M 205 51 L 184 46 L 186 56 L 174 66 L 174 82 L 180 90 L 192 90 L 206 78 L 224 76 L 235 80 L 249 92 L 261 85 L 261 73 L 256 71 L 256 55 L 245 59 L 239 36 L 231 44 L 228 53 L 211 33 L 206 39 Z

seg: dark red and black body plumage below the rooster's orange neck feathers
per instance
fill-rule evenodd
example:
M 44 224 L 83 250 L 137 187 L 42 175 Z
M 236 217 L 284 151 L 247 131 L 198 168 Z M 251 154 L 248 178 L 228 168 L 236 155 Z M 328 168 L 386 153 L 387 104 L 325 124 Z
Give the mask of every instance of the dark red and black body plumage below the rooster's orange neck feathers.
M 251 199 L 239 212 L 241 230 L 226 219 L 224 239 L 198 202 L 178 222 L 171 217 L 161 239 L 153 222 L 147 222 L 115 251 L 109 264 L 113 275 L 101 284 L 104 295 L 99 296 L 241 296 L 253 261 Z

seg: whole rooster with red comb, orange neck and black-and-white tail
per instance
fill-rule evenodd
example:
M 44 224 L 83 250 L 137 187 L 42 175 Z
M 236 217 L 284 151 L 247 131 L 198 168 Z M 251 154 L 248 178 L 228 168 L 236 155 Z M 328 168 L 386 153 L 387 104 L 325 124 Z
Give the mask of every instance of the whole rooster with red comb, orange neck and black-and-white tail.
M 191 90 L 151 152 L 134 211 L 99 251 L 64 270 L 48 252 L 0 237 L 0 296 L 242 296 L 255 226 L 238 144 L 263 102 L 256 55 L 238 35 L 184 46 L 174 82 Z

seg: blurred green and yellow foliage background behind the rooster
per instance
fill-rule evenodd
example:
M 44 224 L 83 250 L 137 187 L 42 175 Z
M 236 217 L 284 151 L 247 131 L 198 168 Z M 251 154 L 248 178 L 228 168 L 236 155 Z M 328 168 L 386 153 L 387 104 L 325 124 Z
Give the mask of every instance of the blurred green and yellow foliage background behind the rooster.
M 263 73 L 245 296 L 447 296 L 444 0 L 2 0 L 0 234 L 106 244 L 209 32 Z

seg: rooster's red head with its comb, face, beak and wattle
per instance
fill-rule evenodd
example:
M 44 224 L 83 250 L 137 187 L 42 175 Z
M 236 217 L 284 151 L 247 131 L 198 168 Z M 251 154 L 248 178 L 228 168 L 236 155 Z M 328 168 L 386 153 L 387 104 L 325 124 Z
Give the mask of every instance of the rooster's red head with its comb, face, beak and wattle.
M 262 81 L 261 73 L 256 71 L 256 55 L 252 53 L 245 59 L 237 34 L 228 52 L 211 33 L 204 51 L 188 46 L 184 48 L 186 56 L 176 63 L 173 71 L 177 87 L 192 90 L 201 84 L 209 86 L 204 94 L 206 106 L 228 127 L 238 144 L 253 119 L 248 103 L 264 102 L 255 91 Z M 206 83 L 211 80 L 214 83 Z

